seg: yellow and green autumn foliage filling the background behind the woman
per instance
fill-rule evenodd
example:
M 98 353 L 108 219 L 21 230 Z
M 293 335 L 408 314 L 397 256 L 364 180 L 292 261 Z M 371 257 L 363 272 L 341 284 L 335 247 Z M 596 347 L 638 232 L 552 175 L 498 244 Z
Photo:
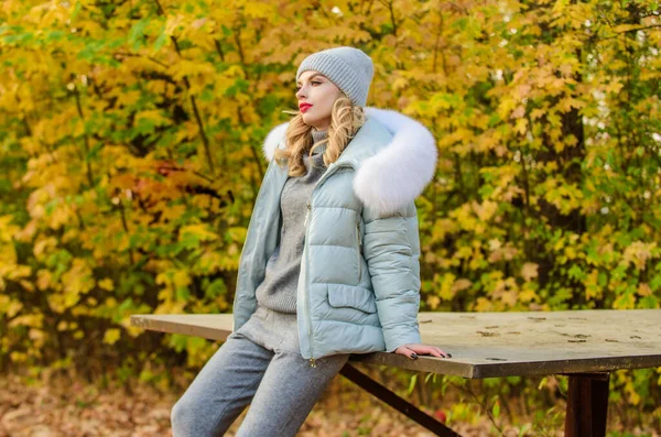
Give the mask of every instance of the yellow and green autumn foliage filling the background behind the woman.
M 295 109 L 297 64 L 336 45 L 372 57 L 369 106 L 437 139 L 418 200 L 421 310 L 658 308 L 659 14 L 600 0 L 3 1 L 2 369 L 149 380 L 203 363 L 206 341 L 144 335 L 129 315 L 231 310 L 262 141 Z M 652 412 L 658 380 L 619 372 L 614 396 Z

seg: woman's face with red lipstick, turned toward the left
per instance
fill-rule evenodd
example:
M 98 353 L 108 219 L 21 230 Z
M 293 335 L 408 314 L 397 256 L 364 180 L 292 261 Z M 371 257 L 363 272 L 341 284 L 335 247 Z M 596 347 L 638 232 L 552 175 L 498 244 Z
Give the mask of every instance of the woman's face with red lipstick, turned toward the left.
M 305 124 L 325 131 L 330 125 L 333 103 L 343 92 L 318 72 L 301 73 L 296 84 L 296 99 Z

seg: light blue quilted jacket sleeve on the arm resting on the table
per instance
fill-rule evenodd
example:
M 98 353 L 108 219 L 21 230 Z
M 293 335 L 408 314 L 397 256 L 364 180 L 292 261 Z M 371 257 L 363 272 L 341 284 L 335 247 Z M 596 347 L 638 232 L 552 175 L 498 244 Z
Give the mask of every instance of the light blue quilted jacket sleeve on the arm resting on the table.
M 364 256 L 371 275 L 386 351 L 420 343 L 420 237 L 411 200 L 392 212 L 365 207 Z

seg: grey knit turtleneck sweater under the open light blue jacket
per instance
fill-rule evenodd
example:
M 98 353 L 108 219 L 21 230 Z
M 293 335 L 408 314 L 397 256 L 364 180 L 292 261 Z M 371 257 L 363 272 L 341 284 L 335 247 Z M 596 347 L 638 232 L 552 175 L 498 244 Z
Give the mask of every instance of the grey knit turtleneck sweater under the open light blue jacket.
M 327 131 L 312 130 L 315 143 L 326 136 Z M 280 244 L 267 262 L 264 280 L 256 291 L 259 305 L 280 313 L 296 313 L 296 288 L 305 242 L 305 214 L 312 188 L 326 171 L 323 159 L 325 150 L 325 144 L 315 149 L 312 160 L 307 154 L 303 156 L 307 173 L 297 177 L 290 176 L 280 196 Z

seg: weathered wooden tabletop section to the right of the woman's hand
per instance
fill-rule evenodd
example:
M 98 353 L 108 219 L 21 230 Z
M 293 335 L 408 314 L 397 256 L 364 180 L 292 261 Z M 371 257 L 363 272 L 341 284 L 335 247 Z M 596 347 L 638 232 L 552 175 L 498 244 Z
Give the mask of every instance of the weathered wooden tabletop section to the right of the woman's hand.
M 422 313 L 419 321 L 423 342 L 473 364 L 472 378 L 661 365 L 661 309 Z

